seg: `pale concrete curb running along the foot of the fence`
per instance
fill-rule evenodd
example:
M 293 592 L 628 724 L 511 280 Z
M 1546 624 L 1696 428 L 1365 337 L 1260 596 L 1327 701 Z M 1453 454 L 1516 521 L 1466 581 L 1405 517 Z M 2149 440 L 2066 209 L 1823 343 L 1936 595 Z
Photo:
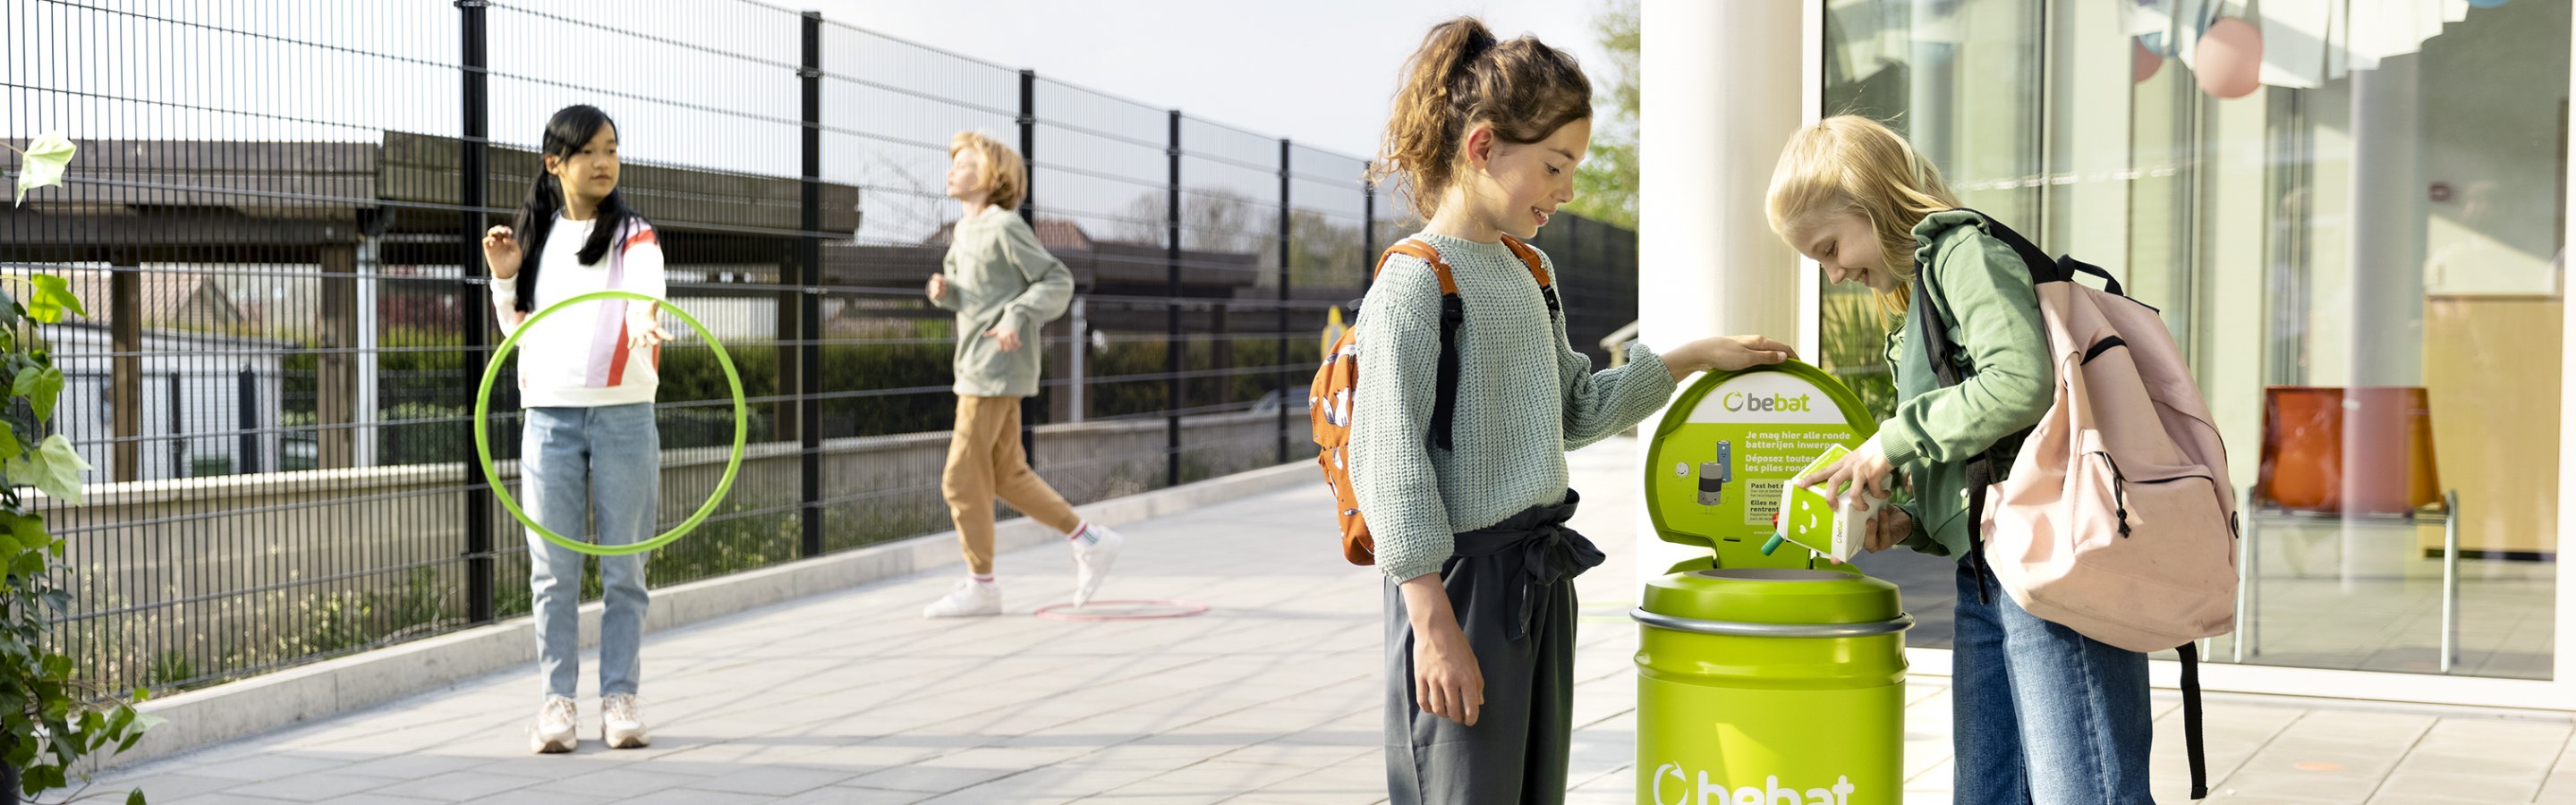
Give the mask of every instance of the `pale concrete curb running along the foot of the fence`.
M 1316 481 L 1314 466 L 1288 463 L 1074 509 L 1092 522 L 1123 525 L 1200 509 L 1218 502 L 1296 489 L 1311 481 Z M 1028 517 L 1012 517 L 999 522 L 994 530 L 994 550 L 1030 548 L 1059 538 L 1061 535 Z M 956 563 L 963 563 L 963 558 L 958 556 L 956 532 L 948 530 L 773 568 L 665 586 L 652 592 L 652 610 L 644 620 L 644 630 L 672 630 L 768 604 L 842 592 Z M 600 602 L 582 604 L 582 648 L 598 646 L 598 633 Z M 167 723 L 144 733 L 144 741 L 134 743 L 131 751 L 108 759 L 103 766 L 129 766 L 317 718 L 332 718 L 533 661 L 536 625 L 528 617 L 513 617 L 461 633 L 193 689 L 137 707 L 142 712 L 167 718 Z

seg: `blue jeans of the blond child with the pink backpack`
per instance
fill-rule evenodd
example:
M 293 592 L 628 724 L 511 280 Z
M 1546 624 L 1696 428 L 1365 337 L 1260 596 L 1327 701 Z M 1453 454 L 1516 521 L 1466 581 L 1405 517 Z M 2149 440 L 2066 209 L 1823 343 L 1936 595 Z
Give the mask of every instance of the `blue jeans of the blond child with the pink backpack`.
M 1978 563 L 1958 563 L 1955 802 L 2154 805 L 2146 653 L 2040 620 L 1984 576 L 1989 602 L 1976 599 Z

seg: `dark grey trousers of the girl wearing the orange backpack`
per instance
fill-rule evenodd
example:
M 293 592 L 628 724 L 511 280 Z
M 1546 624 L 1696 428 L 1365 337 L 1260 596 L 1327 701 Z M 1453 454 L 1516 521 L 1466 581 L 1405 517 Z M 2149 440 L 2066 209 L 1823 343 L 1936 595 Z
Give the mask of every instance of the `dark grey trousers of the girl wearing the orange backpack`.
M 1422 712 L 1414 628 L 1386 581 L 1386 792 L 1391 805 L 1561 805 L 1574 733 L 1574 576 L 1600 566 L 1564 527 L 1577 496 L 1458 535 L 1440 566 L 1450 610 L 1476 651 L 1476 725 Z

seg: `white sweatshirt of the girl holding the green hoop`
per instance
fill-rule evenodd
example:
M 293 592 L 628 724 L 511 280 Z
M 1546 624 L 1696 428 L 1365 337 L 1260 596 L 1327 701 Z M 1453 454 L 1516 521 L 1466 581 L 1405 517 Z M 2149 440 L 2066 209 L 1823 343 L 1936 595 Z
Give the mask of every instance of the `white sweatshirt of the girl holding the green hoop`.
M 623 237 L 608 247 L 600 262 L 582 265 L 582 242 L 590 239 L 592 226 L 598 219 L 554 219 L 528 314 L 518 311 L 518 283 L 492 283 L 492 311 L 502 332 L 518 332 L 520 321 L 536 311 L 590 291 L 634 291 L 665 298 L 662 244 L 654 229 L 644 221 L 626 224 Z M 598 409 L 654 401 L 662 383 L 662 350 L 631 350 L 634 334 L 652 329 L 654 316 L 654 303 L 611 298 L 585 301 L 536 321 L 536 329 L 518 339 L 520 406 Z

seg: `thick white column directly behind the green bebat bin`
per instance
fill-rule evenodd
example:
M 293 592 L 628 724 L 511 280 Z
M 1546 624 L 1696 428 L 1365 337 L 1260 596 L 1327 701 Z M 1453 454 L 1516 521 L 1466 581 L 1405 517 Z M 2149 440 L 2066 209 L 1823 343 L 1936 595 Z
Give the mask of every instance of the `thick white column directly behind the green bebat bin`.
M 1798 260 L 1762 216 L 1780 149 L 1811 116 L 1816 3 L 1643 0 L 1638 103 L 1638 339 L 1798 337 Z M 1798 345 L 1801 355 L 1814 345 Z M 1654 437 L 1656 419 L 1641 424 Z M 1643 450 L 1638 445 L 1638 476 Z M 1636 481 L 1643 484 L 1643 481 Z M 1654 535 L 1641 507 L 1638 581 L 1705 556 Z

